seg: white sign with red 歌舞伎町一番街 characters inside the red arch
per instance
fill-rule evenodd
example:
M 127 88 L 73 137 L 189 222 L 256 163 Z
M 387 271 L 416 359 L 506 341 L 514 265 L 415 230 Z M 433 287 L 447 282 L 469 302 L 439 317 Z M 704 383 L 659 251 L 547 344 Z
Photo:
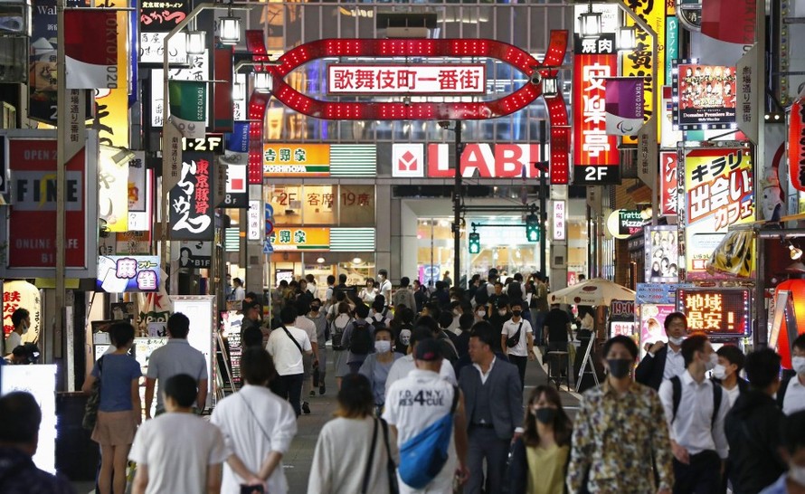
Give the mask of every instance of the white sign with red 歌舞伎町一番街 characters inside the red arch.
M 327 66 L 327 94 L 486 94 L 487 69 L 473 65 Z

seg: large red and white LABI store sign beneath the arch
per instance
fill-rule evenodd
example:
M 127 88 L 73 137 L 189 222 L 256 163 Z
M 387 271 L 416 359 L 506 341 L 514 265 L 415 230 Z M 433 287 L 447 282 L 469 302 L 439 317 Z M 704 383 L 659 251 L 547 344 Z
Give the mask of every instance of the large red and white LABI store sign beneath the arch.
M 450 178 L 455 176 L 452 144 L 394 144 L 392 176 L 405 178 Z M 529 178 L 539 176 L 538 144 L 470 143 L 461 154 L 461 176 L 478 178 Z

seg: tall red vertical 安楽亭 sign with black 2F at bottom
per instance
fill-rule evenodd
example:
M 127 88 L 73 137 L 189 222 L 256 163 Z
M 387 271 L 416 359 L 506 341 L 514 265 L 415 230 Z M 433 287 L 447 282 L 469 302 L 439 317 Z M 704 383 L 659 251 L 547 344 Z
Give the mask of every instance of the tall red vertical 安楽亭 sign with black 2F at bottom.
M 573 184 L 620 183 L 618 139 L 607 135 L 604 81 L 618 73 L 614 35 L 575 38 Z

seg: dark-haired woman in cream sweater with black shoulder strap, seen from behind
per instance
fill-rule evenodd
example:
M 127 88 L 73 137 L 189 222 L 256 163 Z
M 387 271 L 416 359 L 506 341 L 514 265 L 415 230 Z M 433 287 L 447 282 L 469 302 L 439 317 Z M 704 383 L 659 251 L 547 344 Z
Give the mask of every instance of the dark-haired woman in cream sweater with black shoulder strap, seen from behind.
M 308 492 L 388 494 L 400 461 L 397 438 L 374 417 L 372 385 L 365 375 L 345 375 L 338 390 L 336 418 L 318 434 Z

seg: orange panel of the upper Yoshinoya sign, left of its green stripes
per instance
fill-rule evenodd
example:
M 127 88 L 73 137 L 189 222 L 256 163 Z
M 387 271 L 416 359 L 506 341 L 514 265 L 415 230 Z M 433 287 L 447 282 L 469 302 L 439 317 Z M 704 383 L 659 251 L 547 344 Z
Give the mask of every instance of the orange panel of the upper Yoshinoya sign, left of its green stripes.
M 330 176 L 328 144 L 266 144 L 264 176 Z

